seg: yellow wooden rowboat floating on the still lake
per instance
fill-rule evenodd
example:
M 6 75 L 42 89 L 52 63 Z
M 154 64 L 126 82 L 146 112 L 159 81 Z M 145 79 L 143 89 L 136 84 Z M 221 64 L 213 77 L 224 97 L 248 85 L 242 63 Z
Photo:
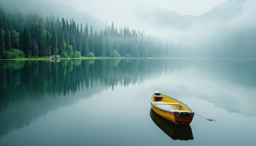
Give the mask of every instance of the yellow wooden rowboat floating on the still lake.
M 157 91 L 151 95 L 150 104 L 155 113 L 179 125 L 190 124 L 195 113 L 180 100 Z

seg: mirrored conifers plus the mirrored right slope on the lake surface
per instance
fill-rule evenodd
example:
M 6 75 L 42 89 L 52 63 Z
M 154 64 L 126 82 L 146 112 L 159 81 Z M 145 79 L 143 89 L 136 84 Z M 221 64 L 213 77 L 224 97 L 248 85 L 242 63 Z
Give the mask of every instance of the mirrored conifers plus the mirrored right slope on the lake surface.
M 89 83 L 100 82 L 108 88 L 117 85 L 128 86 L 143 82 L 141 77 L 157 77 L 161 73 L 186 70 L 193 64 L 200 69 L 233 80 L 233 82 L 256 82 L 255 60 L 200 60 L 200 59 L 92 59 L 18 61 L 0 62 L 0 104 L 11 100 L 40 95 L 74 94 L 88 88 Z M 26 91 L 26 92 L 23 92 Z

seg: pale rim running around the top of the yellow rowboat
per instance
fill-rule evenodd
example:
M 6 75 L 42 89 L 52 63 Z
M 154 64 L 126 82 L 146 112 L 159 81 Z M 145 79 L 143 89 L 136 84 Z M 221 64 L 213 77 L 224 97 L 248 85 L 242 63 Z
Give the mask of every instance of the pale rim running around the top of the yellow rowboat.
M 185 105 L 187 108 L 189 108 L 191 111 L 185 111 L 185 110 L 168 110 L 168 109 L 166 109 L 166 108 L 162 108 L 162 107 L 160 107 L 160 106 L 157 106 L 156 104 L 153 104 L 153 102 L 152 102 L 152 100 L 151 100 L 151 98 L 155 95 L 155 93 L 159 93 L 159 94 L 165 95 L 165 96 L 168 97 L 168 98 L 172 98 L 172 99 L 174 99 L 174 100 L 177 100 L 178 102 L 184 104 L 184 105 Z M 176 98 L 174 98 L 174 97 L 171 97 L 171 96 L 169 96 L 169 95 L 166 95 L 166 94 L 164 94 L 164 93 L 158 92 L 158 91 L 155 91 L 155 92 L 150 96 L 150 103 L 151 103 L 153 106 L 155 106 L 155 107 L 157 107 L 157 108 L 159 108 L 159 109 L 161 109 L 161 110 L 164 110 L 164 111 L 166 111 L 166 112 L 171 112 L 171 113 L 175 113 L 175 112 L 189 112 L 189 114 L 194 114 L 194 113 L 195 113 L 195 112 L 193 111 L 193 109 L 192 109 L 191 107 L 189 107 L 189 105 L 187 105 L 186 103 L 184 103 L 184 102 L 182 102 L 182 101 L 180 101 L 180 100 L 178 100 L 178 99 L 176 99 Z

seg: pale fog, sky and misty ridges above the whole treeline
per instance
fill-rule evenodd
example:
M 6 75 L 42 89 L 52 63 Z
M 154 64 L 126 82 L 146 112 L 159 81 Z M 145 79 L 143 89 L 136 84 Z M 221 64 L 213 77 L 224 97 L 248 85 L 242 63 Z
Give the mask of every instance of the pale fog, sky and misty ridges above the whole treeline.
M 88 22 L 94 26 L 97 24 L 97 28 L 114 22 L 117 29 L 128 26 L 130 30 L 157 35 L 162 40 L 189 45 L 197 44 L 204 38 L 225 31 L 246 31 L 256 26 L 255 0 L 1 1 L 9 2 L 8 7 L 19 4 L 16 7 L 20 9 L 32 9 L 34 4 L 36 5 L 34 11 L 40 10 L 45 15 L 52 13 L 67 19 L 74 18 L 78 23 Z M 25 8 L 22 8 L 22 5 Z M 78 17 L 81 12 L 87 16 Z M 88 15 L 98 18 L 99 21 L 91 22 L 93 19 Z

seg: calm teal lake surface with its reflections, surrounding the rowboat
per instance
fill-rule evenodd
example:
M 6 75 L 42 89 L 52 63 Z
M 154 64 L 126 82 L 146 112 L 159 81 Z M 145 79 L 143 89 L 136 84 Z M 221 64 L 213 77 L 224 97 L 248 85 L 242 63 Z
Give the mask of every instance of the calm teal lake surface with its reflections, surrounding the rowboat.
M 0 146 L 256 145 L 256 60 L 2 60 L 0 71 Z M 155 91 L 193 108 L 190 126 L 150 112 Z

